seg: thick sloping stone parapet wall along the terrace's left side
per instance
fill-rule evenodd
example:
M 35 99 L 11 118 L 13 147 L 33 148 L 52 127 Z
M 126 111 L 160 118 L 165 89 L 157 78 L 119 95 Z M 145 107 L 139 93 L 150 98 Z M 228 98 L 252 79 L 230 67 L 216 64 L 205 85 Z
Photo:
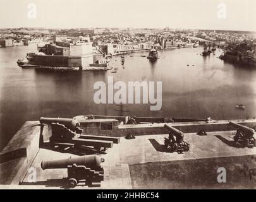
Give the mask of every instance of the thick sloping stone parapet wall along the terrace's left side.
M 39 151 L 40 134 L 47 133 L 47 128 L 41 130 L 38 121 L 27 121 L 0 151 L 0 184 L 18 185 L 23 181 Z

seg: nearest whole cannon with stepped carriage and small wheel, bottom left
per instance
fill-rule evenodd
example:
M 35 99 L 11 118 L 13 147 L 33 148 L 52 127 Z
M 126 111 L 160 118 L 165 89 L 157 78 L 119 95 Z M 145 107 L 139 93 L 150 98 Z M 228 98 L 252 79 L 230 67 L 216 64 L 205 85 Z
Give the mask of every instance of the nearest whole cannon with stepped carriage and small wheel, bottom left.
M 85 182 L 88 186 L 100 183 L 104 180 L 104 169 L 101 163 L 104 158 L 99 155 L 88 155 L 61 160 L 42 161 L 41 168 L 68 169 L 67 185 L 75 187 L 79 182 Z

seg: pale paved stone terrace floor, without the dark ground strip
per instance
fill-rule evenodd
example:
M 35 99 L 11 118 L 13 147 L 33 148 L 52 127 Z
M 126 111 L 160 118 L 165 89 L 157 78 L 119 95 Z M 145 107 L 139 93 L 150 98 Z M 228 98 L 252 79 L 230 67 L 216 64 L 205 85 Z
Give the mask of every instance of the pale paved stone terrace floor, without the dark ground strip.
M 209 132 L 207 136 L 186 133 L 185 141 L 190 144 L 190 151 L 183 154 L 168 153 L 163 150 L 164 137 L 168 137 L 168 134 L 137 136 L 134 140 L 121 138 L 118 145 L 114 144 L 113 148 L 109 148 L 107 153 L 102 155 L 102 157 L 105 158 L 105 162 L 102 163 L 102 167 L 104 167 L 104 181 L 101 182 L 101 187 L 87 187 L 81 185 L 77 186 L 75 189 L 136 188 L 137 186 L 131 182 L 130 167 L 147 162 L 174 162 L 180 160 L 236 156 L 242 156 L 241 158 L 243 158 L 243 156 L 247 155 L 256 155 L 256 148 L 237 148 L 233 145 L 231 136 L 233 136 L 232 133 L 234 132 L 235 131 Z M 65 184 L 63 177 L 67 176 L 66 169 L 42 170 L 40 163 L 42 160 L 57 160 L 73 156 L 75 155 L 71 153 L 61 153 L 40 148 L 31 165 L 31 167 L 34 167 L 37 171 L 37 182 L 28 182 L 30 177 L 29 171 L 19 188 L 65 188 L 63 187 Z M 198 167 L 200 167 L 200 165 L 198 165 Z M 168 169 L 168 167 L 164 169 Z M 161 188 L 161 184 L 159 186 L 159 188 Z

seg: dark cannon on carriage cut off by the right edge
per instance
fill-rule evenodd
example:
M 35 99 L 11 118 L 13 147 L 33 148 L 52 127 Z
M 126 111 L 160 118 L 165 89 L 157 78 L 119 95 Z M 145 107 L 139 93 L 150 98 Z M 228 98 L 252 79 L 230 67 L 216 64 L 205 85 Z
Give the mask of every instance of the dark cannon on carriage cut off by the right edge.
M 236 128 L 236 134 L 233 137 L 236 144 L 247 147 L 255 146 L 256 141 L 253 137 L 253 134 L 255 133 L 254 129 L 232 121 L 229 122 L 229 124 Z

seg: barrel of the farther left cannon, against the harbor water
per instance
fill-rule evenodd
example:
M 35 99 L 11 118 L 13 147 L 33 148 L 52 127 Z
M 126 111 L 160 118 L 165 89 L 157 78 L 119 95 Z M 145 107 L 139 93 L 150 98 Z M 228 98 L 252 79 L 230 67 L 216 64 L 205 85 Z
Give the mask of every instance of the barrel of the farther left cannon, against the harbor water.
M 40 117 L 41 124 L 59 123 L 70 129 L 76 129 L 80 123 L 76 119 Z

